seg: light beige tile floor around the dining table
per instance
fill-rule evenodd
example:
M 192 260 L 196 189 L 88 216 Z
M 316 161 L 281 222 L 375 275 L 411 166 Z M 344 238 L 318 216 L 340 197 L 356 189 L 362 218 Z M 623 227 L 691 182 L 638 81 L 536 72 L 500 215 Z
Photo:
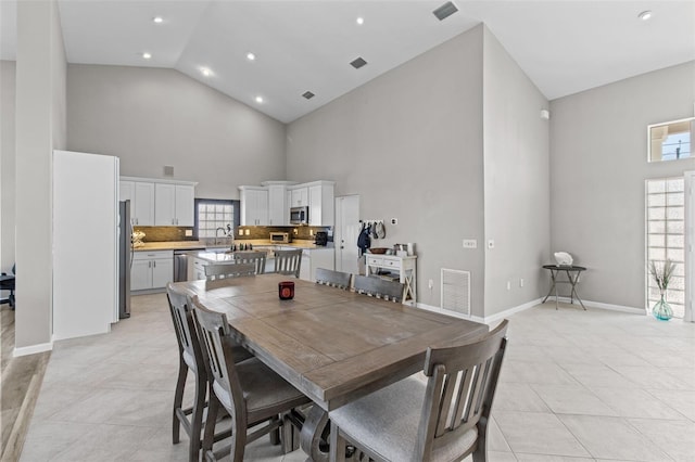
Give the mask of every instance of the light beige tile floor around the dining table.
M 695 323 L 574 306 L 510 318 L 491 461 L 695 461 Z M 22 461 L 185 461 L 170 442 L 176 339 L 163 294 L 109 335 L 56 343 Z M 266 438 L 250 461 L 304 461 Z

